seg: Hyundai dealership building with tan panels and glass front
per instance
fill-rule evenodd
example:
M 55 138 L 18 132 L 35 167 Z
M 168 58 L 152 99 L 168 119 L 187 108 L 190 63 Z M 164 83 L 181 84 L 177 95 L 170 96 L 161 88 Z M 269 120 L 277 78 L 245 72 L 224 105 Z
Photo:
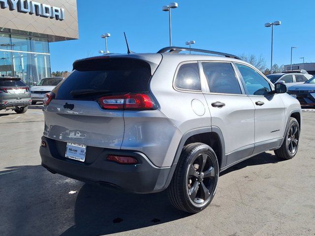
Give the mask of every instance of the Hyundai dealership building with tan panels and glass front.
M 78 37 L 76 0 L 0 0 L 0 76 L 32 86 L 51 76 L 49 43 Z

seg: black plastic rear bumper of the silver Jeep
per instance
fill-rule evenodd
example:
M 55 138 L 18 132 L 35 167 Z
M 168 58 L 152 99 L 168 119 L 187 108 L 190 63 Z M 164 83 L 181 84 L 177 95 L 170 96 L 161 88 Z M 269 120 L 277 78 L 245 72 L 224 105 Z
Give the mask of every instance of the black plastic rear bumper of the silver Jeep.
M 64 157 L 66 143 L 42 137 L 47 147 L 40 147 L 42 166 L 53 173 L 101 185 L 111 185 L 134 193 L 153 193 L 164 190 L 171 168 L 158 168 L 140 152 L 87 147 L 86 161 Z M 122 165 L 108 161 L 108 154 L 128 155 L 139 164 Z

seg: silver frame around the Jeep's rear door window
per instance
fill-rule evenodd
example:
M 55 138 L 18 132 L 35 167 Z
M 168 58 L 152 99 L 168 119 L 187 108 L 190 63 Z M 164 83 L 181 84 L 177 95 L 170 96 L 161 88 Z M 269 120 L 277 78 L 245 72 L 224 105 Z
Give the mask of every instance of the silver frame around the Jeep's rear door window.
M 200 70 L 200 73 L 202 74 L 201 75 L 201 78 L 204 80 L 204 83 L 205 83 L 205 87 L 206 87 L 206 90 L 203 91 L 204 94 L 220 94 L 220 95 L 236 95 L 236 96 L 246 96 L 246 92 L 245 92 L 245 89 L 243 87 L 243 84 L 240 80 L 240 77 L 237 73 L 237 71 L 235 70 L 235 66 L 233 65 L 233 61 L 227 61 L 227 60 L 198 60 L 199 62 L 199 70 Z M 234 70 L 234 74 L 235 74 L 235 77 L 238 81 L 238 84 L 240 86 L 240 89 L 241 89 L 241 94 L 238 94 L 238 93 L 221 93 L 221 92 L 211 92 L 210 88 L 209 88 L 209 85 L 208 85 L 208 81 L 207 81 L 207 78 L 206 78 L 206 75 L 204 73 L 204 70 L 203 70 L 203 66 L 202 66 L 202 63 L 229 63 L 231 64 L 232 66 L 232 69 Z M 202 72 L 201 72 L 202 71 Z

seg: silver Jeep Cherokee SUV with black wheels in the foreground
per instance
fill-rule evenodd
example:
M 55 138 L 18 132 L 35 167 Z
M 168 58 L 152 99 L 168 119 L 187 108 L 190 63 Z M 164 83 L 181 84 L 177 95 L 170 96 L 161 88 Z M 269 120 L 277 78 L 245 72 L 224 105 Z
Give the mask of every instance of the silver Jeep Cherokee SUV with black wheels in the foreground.
M 179 54 L 181 51 L 219 54 Z M 219 173 L 258 153 L 295 156 L 299 102 L 252 65 L 213 51 L 77 60 L 44 99 L 42 166 L 52 173 L 135 193 L 168 189 L 199 212 Z

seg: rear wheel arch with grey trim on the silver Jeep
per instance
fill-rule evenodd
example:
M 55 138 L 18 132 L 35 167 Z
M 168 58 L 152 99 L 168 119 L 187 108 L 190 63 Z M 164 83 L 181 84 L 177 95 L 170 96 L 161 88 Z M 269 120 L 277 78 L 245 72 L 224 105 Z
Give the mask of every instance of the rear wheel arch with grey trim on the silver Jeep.
M 208 140 L 209 138 L 210 140 Z M 222 167 L 226 165 L 224 138 L 223 138 L 221 129 L 219 127 L 209 126 L 209 127 L 201 127 L 201 128 L 189 130 L 182 136 L 182 139 L 177 147 L 176 154 L 175 154 L 173 164 L 171 167 L 171 171 L 169 173 L 169 176 L 167 177 L 164 189 L 168 187 L 169 183 L 172 180 L 173 174 L 175 172 L 178 160 L 180 158 L 180 155 L 184 146 L 188 145 L 189 143 L 197 143 L 197 142 L 205 143 L 207 145 L 210 144 L 209 146 L 211 148 L 214 148 L 214 151 L 218 158 L 220 170 Z M 211 145 L 213 144 L 215 144 L 216 146 L 212 147 Z

